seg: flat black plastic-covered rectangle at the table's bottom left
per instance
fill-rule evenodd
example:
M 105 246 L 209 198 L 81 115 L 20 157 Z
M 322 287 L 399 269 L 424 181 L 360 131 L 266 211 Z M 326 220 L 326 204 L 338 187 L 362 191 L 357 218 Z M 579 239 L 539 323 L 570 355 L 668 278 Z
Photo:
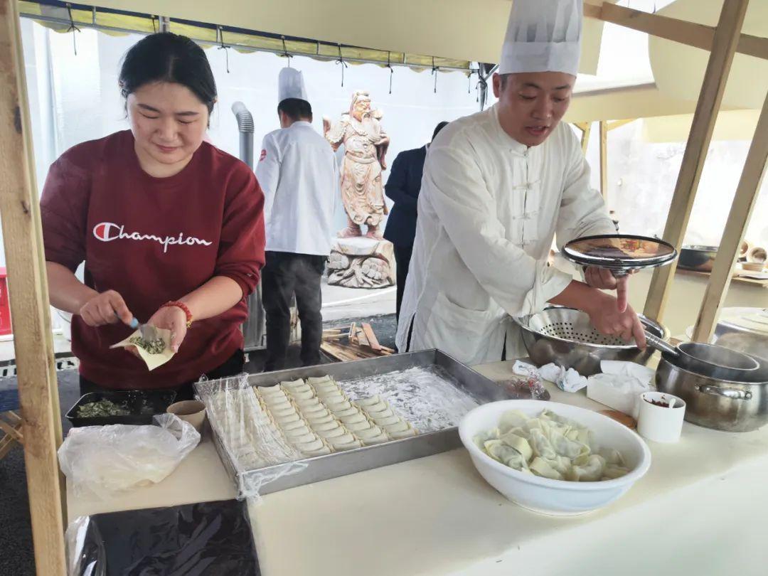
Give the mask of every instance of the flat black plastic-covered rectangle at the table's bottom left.
M 69 576 L 258 576 L 245 502 L 224 500 L 76 518 Z

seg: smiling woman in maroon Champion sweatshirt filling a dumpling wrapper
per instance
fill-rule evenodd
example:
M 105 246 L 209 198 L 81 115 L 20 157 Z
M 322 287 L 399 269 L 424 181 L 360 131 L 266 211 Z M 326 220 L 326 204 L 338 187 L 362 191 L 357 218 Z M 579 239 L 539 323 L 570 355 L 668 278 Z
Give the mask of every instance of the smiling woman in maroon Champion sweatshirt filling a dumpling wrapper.
M 240 324 L 264 263 L 263 194 L 246 164 L 204 142 L 216 84 L 204 51 L 169 33 L 125 55 L 131 130 L 51 166 L 41 198 L 51 304 L 71 312 L 81 391 L 178 389 L 243 368 Z M 85 262 L 85 283 L 74 271 Z M 125 349 L 134 316 L 170 329 L 149 372 Z

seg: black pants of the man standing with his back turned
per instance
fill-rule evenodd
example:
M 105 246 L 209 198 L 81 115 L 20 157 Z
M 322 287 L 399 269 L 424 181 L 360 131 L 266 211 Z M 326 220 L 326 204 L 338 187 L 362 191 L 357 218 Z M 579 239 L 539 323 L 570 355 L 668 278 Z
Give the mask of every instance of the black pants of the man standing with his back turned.
M 266 265 L 261 270 L 261 288 L 266 312 L 264 369 L 267 372 L 286 366 L 290 343 L 290 305 L 294 295 L 301 322 L 301 362 L 303 366 L 320 363 L 320 342 L 323 339 L 320 278 L 325 266 L 324 256 L 266 253 Z

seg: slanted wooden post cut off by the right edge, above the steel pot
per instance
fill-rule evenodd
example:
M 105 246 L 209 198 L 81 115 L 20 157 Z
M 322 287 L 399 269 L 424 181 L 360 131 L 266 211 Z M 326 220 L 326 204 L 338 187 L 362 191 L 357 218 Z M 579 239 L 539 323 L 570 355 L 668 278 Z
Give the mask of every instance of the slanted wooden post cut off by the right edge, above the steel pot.
M 752 210 L 760 193 L 760 185 L 768 161 L 768 96 L 763 104 L 763 111 L 757 121 L 755 135 L 750 151 L 746 154 L 746 162 L 741 173 L 739 186 L 736 189 L 736 197 L 730 207 L 730 214 L 720 240 L 720 248 L 712 268 L 710 282 L 704 293 L 704 300 L 699 311 L 699 318 L 694 327 L 694 342 L 709 342 L 714 332 L 717 319 L 720 316 L 720 308 L 733 276 L 733 266 L 736 265 L 739 247 L 744 239 L 746 227 L 750 223 Z

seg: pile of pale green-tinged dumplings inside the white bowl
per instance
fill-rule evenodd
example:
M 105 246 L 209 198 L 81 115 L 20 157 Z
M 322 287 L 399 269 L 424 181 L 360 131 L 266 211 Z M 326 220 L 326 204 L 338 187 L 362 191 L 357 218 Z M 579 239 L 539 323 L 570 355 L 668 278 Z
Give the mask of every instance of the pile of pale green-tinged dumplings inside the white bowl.
M 496 462 L 553 480 L 596 482 L 629 472 L 620 452 L 598 448 L 588 428 L 548 410 L 535 417 L 509 410 L 474 440 Z

